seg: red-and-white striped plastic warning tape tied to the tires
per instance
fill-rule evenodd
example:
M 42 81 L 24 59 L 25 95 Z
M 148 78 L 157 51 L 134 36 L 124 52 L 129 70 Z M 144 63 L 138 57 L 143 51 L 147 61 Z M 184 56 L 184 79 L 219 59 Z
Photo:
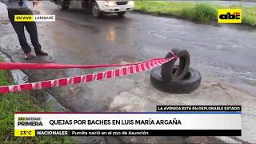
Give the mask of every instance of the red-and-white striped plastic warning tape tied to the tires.
M 70 77 L 70 78 L 58 78 L 58 79 L 53 79 L 53 80 L 47 80 L 47 81 L 42 81 L 42 82 L 32 82 L 32 83 L 24 83 L 24 84 L 19 84 L 19 85 L 13 85 L 13 86 L 0 86 L 0 94 L 6 94 L 6 93 L 12 93 L 12 92 L 20 92 L 24 90 L 39 90 L 39 89 L 46 89 L 50 87 L 58 87 L 58 86 L 67 86 L 71 84 L 77 84 L 77 83 L 88 83 L 88 82 L 94 82 L 102 79 L 108 79 L 108 78 L 115 78 L 115 77 L 120 77 L 123 75 L 128 75 L 128 74 L 135 74 L 141 71 L 145 70 L 150 70 L 153 69 L 154 67 L 161 66 L 162 64 L 174 60 L 176 55 L 174 55 L 173 58 L 154 58 L 146 62 L 140 62 L 140 63 L 135 63 L 135 64 L 115 64 L 115 65 L 88 65 L 88 66 L 71 66 L 71 65 L 59 65 L 59 64 L 51 64 L 48 67 L 48 69 L 56 69 L 56 68 L 96 68 L 96 67 L 110 67 L 110 66 L 122 66 L 118 67 L 115 70 L 107 70 L 104 72 L 98 72 L 95 74 L 86 74 L 82 76 L 75 76 L 75 77 Z M 8 62 L 7 62 L 8 63 Z M 14 64 L 14 63 L 12 63 Z M 9 66 L 12 64 L 8 64 Z M 23 64 L 25 66 L 26 64 Z M 30 64 L 22 67 L 22 63 L 18 63 L 18 65 L 15 64 L 13 67 L 9 67 L 6 65 L 2 65 L 0 63 L 0 70 L 14 70 L 14 69 L 35 69 L 33 66 L 29 66 Z M 38 66 L 40 64 L 36 64 Z M 45 68 L 49 65 L 46 64 L 41 64 L 45 65 Z M 57 66 L 57 67 L 54 67 Z M 7 66 L 6 69 L 4 66 Z M 39 67 L 42 69 L 42 67 Z

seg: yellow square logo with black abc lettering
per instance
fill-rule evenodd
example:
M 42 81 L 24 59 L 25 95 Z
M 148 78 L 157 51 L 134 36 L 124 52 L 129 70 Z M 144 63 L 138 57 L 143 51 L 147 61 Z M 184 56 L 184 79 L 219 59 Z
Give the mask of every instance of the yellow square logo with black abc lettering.
M 218 23 L 242 23 L 242 10 L 218 9 Z

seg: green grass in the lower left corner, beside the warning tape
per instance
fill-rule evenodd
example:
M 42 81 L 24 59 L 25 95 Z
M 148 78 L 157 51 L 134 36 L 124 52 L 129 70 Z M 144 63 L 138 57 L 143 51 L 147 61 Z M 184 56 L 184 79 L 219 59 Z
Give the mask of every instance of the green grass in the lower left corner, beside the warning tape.
M 0 62 L 2 57 L 0 55 Z M 0 86 L 14 84 L 9 71 L 0 70 Z M 14 137 L 14 112 L 50 111 L 27 93 L 0 94 L 0 143 L 78 143 L 70 137 Z

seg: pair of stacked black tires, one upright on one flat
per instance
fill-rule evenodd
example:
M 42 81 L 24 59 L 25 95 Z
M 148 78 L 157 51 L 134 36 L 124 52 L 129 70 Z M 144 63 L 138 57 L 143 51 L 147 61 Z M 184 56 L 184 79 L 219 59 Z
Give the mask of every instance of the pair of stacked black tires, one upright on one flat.
M 190 68 L 190 54 L 187 50 L 171 50 L 178 58 L 166 62 L 151 71 L 150 82 L 154 87 L 174 94 L 189 94 L 201 84 L 201 74 Z M 174 54 L 166 54 L 173 58 Z M 174 65 L 179 60 L 178 65 Z

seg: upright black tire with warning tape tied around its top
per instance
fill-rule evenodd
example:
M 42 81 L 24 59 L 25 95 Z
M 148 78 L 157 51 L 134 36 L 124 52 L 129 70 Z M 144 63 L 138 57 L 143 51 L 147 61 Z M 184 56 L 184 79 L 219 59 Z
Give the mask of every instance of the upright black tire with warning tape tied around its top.
M 176 54 L 179 58 L 178 68 L 174 72 L 172 66 L 174 66 L 176 61 L 167 62 L 166 64 L 162 65 L 162 77 L 181 80 L 188 73 L 190 67 L 190 54 L 187 50 L 173 49 L 172 52 L 174 52 L 174 54 Z M 166 58 L 172 57 L 173 54 L 166 54 Z

